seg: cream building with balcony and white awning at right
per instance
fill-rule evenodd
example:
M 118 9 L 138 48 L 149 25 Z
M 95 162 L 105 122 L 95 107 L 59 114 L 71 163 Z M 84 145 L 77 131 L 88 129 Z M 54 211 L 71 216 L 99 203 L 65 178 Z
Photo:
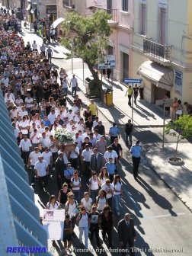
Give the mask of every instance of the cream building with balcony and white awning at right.
M 190 0 L 138 0 L 134 7 L 133 78 L 144 98 L 162 104 L 165 94 L 192 103 Z

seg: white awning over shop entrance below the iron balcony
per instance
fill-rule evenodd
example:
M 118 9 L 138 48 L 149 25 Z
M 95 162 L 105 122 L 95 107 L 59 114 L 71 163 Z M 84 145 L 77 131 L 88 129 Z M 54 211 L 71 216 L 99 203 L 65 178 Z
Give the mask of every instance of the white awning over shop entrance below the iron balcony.
M 170 91 L 173 85 L 173 70 L 152 61 L 143 62 L 137 74 L 167 91 Z

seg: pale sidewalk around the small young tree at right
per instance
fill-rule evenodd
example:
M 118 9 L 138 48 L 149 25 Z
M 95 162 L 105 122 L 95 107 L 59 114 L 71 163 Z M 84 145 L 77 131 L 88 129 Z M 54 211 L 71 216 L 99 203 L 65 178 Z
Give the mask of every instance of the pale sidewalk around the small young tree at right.
M 156 174 L 192 212 L 192 145 L 187 143 L 187 148 L 186 143 L 178 145 L 178 156 L 183 158 L 184 165 L 171 165 L 168 162 L 168 158 L 174 155 L 174 149 L 175 144 L 166 144 L 165 149 L 154 146 L 146 153 L 146 157 Z

